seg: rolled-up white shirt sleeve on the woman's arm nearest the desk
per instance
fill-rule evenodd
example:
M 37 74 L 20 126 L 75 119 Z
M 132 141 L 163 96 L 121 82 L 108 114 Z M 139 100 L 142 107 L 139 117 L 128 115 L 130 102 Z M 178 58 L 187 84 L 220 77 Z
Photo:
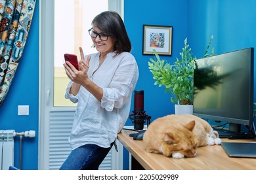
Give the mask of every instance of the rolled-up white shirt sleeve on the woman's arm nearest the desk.
M 107 111 L 121 108 L 135 89 L 139 78 L 139 69 L 135 58 L 126 53 L 121 56 L 121 61 L 112 78 L 109 88 L 103 88 L 103 97 L 100 106 Z

